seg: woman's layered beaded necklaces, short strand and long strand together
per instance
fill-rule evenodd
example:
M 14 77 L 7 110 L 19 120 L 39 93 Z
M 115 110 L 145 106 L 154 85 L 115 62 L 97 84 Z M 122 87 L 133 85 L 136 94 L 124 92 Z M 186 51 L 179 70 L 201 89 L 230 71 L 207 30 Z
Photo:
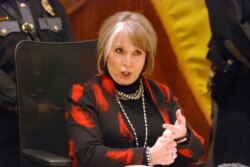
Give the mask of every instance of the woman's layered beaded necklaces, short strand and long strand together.
M 125 94 L 122 92 L 119 92 L 116 90 L 116 100 L 121 108 L 122 114 L 125 116 L 130 128 L 132 129 L 132 132 L 135 136 L 135 143 L 136 143 L 136 147 L 139 147 L 139 142 L 138 142 L 138 137 L 137 137 L 137 133 L 135 131 L 135 128 L 132 124 L 132 122 L 130 121 L 124 107 L 122 106 L 121 102 L 119 99 L 123 99 L 123 100 L 137 100 L 140 97 L 142 98 L 142 109 L 143 109 L 143 118 L 144 118 L 144 124 L 145 124 L 145 139 L 144 139 L 144 145 L 143 147 L 146 148 L 147 146 L 147 141 L 148 141 L 148 120 L 147 120 L 147 113 L 146 113 L 146 107 L 145 107 L 145 98 L 144 98 L 144 88 L 143 88 L 143 84 L 142 84 L 142 80 L 140 80 L 140 87 L 139 90 L 136 91 L 137 92 L 141 92 L 140 96 L 135 99 L 134 98 L 134 94 Z M 125 98 L 125 99 L 124 99 Z

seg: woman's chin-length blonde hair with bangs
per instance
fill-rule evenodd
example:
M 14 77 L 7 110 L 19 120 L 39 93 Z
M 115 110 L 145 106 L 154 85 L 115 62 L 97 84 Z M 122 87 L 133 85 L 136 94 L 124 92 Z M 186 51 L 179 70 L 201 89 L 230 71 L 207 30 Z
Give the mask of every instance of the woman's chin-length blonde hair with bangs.
M 110 53 L 118 34 L 127 35 L 133 45 L 146 52 L 146 62 L 142 74 L 149 75 L 154 69 L 157 35 L 145 16 L 129 11 L 118 12 L 110 16 L 100 28 L 97 46 L 99 73 L 106 72 L 106 57 Z

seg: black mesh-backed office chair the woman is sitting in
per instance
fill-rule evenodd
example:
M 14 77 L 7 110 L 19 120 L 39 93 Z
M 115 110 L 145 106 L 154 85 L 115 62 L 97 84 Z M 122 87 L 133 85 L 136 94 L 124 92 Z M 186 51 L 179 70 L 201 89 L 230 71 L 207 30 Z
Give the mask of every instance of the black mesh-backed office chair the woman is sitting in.
M 69 88 L 96 72 L 96 40 L 21 41 L 15 51 L 21 166 L 70 166 L 65 107 Z

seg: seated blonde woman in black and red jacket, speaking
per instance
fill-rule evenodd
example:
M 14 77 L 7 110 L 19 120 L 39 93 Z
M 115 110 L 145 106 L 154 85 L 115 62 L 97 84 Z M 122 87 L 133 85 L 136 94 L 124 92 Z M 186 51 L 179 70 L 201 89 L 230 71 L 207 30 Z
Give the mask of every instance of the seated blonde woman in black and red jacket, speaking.
M 119 12 L 102 25 L 99 75 L 72 87 L 68 125 L 82 166 L 187 166 L 203 139 L 186 123 L 166 85 L 146 79 L 157 36 L 141 14 Z

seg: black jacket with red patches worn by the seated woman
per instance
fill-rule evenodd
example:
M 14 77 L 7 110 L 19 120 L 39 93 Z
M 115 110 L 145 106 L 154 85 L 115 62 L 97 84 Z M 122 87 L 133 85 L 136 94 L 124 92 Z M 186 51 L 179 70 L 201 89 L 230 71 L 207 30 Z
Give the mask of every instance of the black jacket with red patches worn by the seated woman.
M 143 85 L 163 122 L 175 122 L 179 106 L 169 88 L 144 78 Z M 121 113 L 114 82 L 108 76 L 98 75 L 85 84 L 73 85 L 67 113 L 74 147 L 71 155 L 75 152 L 83 167 L 147 165 L 145 148 L 133 146 L 132 130 Z M 203 138 L 187 127 L 188 141 L 178 145 L 178 158 L 171 166 L 187 166 L 202 154 Z

